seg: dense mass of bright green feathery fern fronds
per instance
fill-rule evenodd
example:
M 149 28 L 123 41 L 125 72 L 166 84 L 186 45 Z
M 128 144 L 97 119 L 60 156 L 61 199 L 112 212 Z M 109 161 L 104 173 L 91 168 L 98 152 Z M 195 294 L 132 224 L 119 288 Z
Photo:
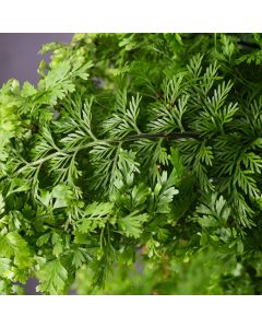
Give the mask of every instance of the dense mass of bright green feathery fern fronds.
M 0 90 L 0 291 L 262 293 L 262 36 L 78 34 Z

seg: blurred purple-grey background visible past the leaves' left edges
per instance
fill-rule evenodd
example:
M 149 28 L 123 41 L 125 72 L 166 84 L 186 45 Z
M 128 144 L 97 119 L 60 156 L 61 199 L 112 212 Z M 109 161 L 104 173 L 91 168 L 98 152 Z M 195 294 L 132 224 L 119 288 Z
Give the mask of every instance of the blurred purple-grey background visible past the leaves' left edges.
M 43 44 L 51 42 L 70 43 L 72 33 L 0 33 L 0 87 L 9 79 L 37 84 L 39 62 L 48 55 L 38 55 Z M 37 280 L 25 285 L 26 294 L 37 294 Z

